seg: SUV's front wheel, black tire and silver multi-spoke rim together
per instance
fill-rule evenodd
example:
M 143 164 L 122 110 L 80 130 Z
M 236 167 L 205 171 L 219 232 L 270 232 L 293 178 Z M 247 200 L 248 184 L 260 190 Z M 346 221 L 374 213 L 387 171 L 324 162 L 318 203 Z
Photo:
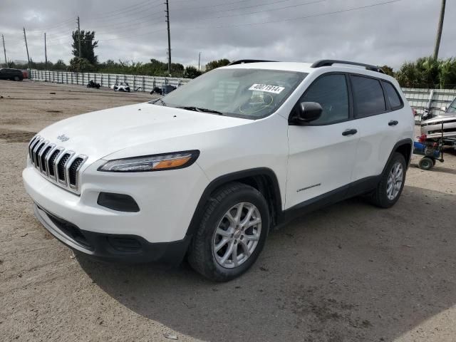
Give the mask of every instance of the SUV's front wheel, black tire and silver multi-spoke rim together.
M 206 204 L 188 255 L 190 265 L 214 281 L 229 281 L 254 264 L 269 229 L 266 199 L 254 187 L 229 183 Z

